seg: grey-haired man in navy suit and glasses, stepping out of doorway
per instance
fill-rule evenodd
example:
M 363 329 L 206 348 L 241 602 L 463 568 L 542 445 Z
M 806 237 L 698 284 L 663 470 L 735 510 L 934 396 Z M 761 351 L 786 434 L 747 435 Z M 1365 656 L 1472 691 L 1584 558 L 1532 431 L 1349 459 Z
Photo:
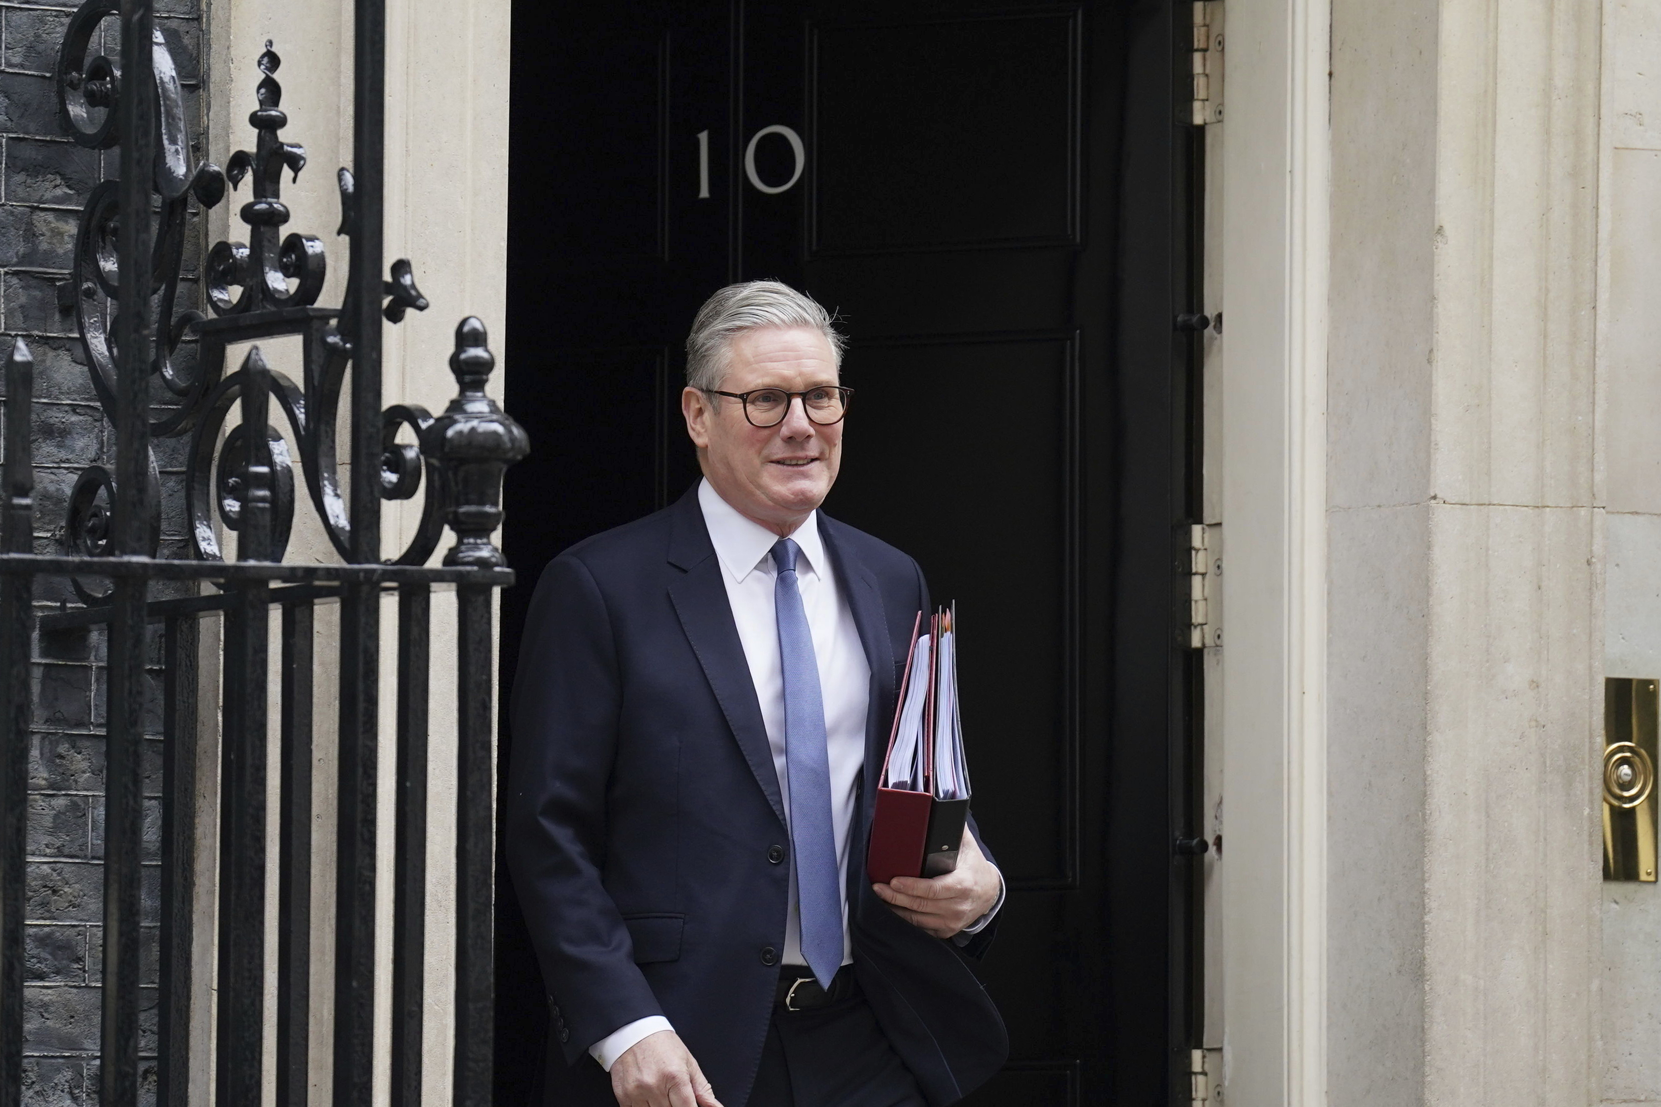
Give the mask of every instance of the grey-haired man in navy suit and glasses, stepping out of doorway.
M 507 850 L 548 991 L 548 1107 L 942 1105 L 1003 1064 L 967 964 L 1003 901 L 978 830 L 953 873 L 864 876 L 928 591 L 819 513 L 840 345 L 782 284 L 711 297 L 681 397 L 704 480 L 537 586 Z

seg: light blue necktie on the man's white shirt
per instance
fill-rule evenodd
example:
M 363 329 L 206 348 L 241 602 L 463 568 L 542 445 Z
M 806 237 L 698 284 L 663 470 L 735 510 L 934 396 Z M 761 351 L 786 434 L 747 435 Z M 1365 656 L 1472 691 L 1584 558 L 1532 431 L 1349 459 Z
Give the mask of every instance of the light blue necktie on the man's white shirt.
M 830 752 L 819 661 L 807 631 L 807 609 L 796 581 L 801 548 L 789 538 L 772 546 L 779 566 L 772 586 L 784 669 L 784 763 L 791 777 L 791 848 L 796 900 L 802 909 L 802 958 L 821 988 L 842 968 L 842 891 L 830 825 Z

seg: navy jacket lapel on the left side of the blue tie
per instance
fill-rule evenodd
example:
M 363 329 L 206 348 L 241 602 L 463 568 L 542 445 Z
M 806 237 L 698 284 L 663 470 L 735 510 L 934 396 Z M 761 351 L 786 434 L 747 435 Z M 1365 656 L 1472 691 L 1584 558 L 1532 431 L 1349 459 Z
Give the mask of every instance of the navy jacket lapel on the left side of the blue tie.
M 749 762 L 749 770 L 756 773 L 756 783 L 784 825 L 784 793 L 779 790 L 779 773 L 772 765 L 767 727 L 761 719 L 761 702 L 756 699 L 756 684 L 744 659 L 744 644 L 733 622 L 733 606 L 721 581 L 721 563 L 709 543 L 704 513 L 698 506 L 696 485 L 674 505 L 669 564 L 684 573 L 669 583 L 674 614 L 681 619 L 681 629 L 693 644 L 698 664 L 704 669 L 704 677 L 744 752 L 744 760 Z

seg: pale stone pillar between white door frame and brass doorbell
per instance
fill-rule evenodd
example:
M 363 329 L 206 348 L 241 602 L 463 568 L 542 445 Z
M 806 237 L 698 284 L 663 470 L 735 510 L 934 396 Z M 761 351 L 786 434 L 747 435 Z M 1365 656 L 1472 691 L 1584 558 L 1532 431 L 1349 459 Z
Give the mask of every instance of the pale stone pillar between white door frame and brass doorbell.
M 1334 1104 L 1596 1099 L 1600 17 L 1334 2 Z

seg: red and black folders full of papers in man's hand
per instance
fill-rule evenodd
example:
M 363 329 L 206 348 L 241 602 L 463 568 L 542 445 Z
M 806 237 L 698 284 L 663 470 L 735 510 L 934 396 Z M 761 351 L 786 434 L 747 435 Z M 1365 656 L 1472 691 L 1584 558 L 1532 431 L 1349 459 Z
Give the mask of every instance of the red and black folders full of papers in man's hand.
M 955 870 L 968 822 L 955 607 L 937 611 L 928 634 L 920 634 L 922 621 L 919 611 L 870 825 L 865 873 L 877 885 Z

